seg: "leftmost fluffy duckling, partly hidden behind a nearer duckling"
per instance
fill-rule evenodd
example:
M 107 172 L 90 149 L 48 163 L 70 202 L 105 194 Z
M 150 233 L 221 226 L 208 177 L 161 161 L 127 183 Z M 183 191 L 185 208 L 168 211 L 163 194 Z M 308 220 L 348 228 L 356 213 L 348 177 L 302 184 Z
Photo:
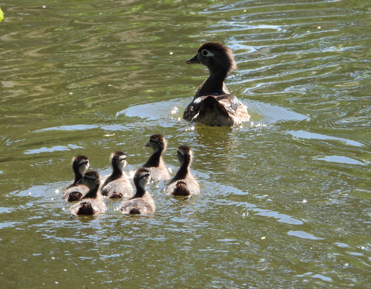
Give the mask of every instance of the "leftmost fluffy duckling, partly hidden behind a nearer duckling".
M 75 173 L 75 180 L 70 184 L 62 194 L 62 199 L 72 202 L 80 200 L 83 194 L 88 193 L 89 188 L 86 185 L 77 183 L 82 179 L 83 173 L 88 168 L 92 168 L 89 160 L 85 155 L 77 155 L 72 160 L 72 170 Z

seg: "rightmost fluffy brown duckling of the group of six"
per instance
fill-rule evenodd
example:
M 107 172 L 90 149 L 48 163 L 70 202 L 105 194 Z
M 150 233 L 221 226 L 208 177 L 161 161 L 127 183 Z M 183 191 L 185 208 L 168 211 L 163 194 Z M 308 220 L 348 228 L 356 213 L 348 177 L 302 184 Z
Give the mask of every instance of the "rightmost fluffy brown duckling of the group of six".
M 186 145 L 181 145 L 175 156 L 180 162 L 180 168 L 165 187 L 165 192 L 168 195 L 188 197 L 200 194 L 200 186 L 189 171 L 193 159 L 191 149 Z

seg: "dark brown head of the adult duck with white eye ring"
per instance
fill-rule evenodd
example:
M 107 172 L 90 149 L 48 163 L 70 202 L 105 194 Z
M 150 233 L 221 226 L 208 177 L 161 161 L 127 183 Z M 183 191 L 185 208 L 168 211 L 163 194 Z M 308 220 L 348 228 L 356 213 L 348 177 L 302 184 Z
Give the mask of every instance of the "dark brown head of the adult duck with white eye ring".
M 210 70 L 210 74 L 221 72 L 228 74 L 237 68 L 232 50 L 217 42 L 206 42 L 201 45 L 197 54 L 187 60 L 187 64 L 192 63 L 206 65 Z

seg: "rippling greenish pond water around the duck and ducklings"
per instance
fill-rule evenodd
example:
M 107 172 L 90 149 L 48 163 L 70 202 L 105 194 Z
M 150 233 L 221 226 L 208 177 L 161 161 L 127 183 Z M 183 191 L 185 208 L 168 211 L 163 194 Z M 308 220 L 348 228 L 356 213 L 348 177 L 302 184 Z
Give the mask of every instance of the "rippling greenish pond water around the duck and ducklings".
M 0 23 L 2 288 L 369 288 L 370 1 L 4 0 Z M 250 122 L 181 119 L 229 46 Z M 152 134 L 194 152 L 201 194 L 151 183 L 157 211 L 108 200 L 75 217 L 71 159 L 132 175 Z

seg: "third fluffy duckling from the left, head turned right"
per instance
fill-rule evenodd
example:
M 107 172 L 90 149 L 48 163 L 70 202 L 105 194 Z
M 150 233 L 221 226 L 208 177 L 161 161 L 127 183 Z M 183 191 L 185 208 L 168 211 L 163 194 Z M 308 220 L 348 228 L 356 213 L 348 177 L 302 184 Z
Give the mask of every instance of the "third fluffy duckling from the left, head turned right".
M 133 192 L 127 175 L 122 171 L 128 165 L 126 155 L 117 151 L 111 154 L 113 172 L 103 182 L 102 195 L 108 198 L 128 198 Z

